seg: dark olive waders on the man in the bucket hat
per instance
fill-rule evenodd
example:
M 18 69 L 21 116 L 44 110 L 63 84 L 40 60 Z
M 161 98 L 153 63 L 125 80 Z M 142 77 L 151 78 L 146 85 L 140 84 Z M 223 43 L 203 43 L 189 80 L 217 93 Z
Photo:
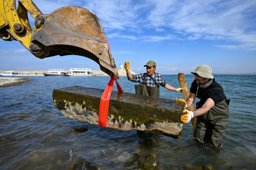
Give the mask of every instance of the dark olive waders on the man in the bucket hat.
M 229 119 L 229 102 L 230 99 L 224 99 L 214 105 L 207 113 L 197 116 L 194 137 L 199 142 L 208 143 L 216 149 L 222 148 L 221 140 Z

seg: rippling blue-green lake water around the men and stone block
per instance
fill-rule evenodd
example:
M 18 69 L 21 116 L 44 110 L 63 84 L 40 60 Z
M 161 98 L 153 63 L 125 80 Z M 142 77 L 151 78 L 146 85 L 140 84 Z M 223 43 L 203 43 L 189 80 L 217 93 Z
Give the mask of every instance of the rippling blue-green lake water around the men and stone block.
M 171 86 L 179 87 L 177 75 L 163 77 Z M 91 125 L 66 118 L 54 108 L 54 89 L 105 89 L 109 76 L 33 76 L 20 86 L 0 87 L 0 169 L 256 169 L 256 76 L 214 77 L 231 99 L 221 151 L 197 144 L 191 122 L 184 124 L 181 140 L 176 140 Z M 190 88 L 194 76 L 185 78 Z M 120 77 L 119 82 L 124 92 L 135 93 L 137 83 L 126 77 Z M 117 91 L 116 83 L 113 91 Z M 160 87 L 160 97 L 183 95 Z M 75 127 L 88 130 L 78 133 Z

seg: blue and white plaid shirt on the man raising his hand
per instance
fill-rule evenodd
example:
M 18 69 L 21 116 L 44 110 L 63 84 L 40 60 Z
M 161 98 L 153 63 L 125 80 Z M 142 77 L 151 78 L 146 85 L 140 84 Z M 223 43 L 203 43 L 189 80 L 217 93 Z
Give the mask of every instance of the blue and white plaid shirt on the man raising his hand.
M 154 80 L 152 80 L 152 78 L 150 76 L 148 76 L 147 73 L 141 73 L 139 75 L 132 75 L 132 79 L 130 81 L 132 82 L 139 82 L 139 84 L 143 84 L 143 75 L 145 75 L 145 84 L 147 86 L 150 86 L 150 87 L 155 87 L 156 86 L 156 83 L 154 82 Z M 158 73 L 155 73 L 155 76 L 153 76 L 153 78 L 156 80 L 156 82 L 161 85 L 162 87 L 164 87 L 166 85 L 166 81 L 163 79 L 162 75 L 158 74 Z

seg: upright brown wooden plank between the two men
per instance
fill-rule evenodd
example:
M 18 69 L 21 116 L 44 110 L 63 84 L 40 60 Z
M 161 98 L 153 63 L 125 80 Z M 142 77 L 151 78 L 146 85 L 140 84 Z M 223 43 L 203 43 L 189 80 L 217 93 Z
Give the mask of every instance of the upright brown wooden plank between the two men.
M 185 76 L 184 76 L 183 73 L 179 73 L 178 74 L 178 80 L 180 82 L 181 88 L 185 89 L 185 90 L 182 90 L 182 94 L 183 94 L 184 99 L 187 100 L 187 98 L 189 97 L 190 93 L 189 93 L 189 89 L 187 87 L 187 82 L 186 82 L 186 79 L 185 79 Z M 187 109 L 190 110 L 190 111 L 194 111 L 195 110 L 193 104 L 191 106 L 189 106 Z M 196 122 L 197 122 L 197 118 L 193 117 L 191 119 L 191 123 L 192 123 L 192 126 L 193 126 L 194 129 L 196 129 Z

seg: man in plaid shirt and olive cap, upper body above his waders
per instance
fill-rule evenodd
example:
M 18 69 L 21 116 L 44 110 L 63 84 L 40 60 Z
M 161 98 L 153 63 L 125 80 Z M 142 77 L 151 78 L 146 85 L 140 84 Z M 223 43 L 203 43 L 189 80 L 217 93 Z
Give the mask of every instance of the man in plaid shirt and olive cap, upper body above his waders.
M 174 88 L 172 86 L 170 86 L 169 84 L 166 83 L 166 81 L 163 79 L 162 75 L 156 73 L 156 62 L 155 61 L 148 61 L 146 65 L 144 65 L 144 67 L 146 67 L 147 73 L 142 73 L 139 75 L 132 75 L 129 71 L 130 69 L 130 64 L 129 61 L 124 63 L 124 68 L 126 70 L 126 75 L 128 80 L 132 81 L 132 82 L 139 82 L 140 85 L 146 85 L 149 87 L 154 88 L 155 86 L 161 85 L 162 87 L 168 89 L 168 90 L 172 90 L 174 92 L 181 92 L 181 88 Z M 144 77 L 145 77 L 145 81 L 144 81 Z M 155 80 L 155 81 L 154 81 Z M 137 92 L 136 92 L 137 93 Z M 158 91 L 159 93 L 159 91 Z M 158 94 L 159 96 L 159 94 Z

